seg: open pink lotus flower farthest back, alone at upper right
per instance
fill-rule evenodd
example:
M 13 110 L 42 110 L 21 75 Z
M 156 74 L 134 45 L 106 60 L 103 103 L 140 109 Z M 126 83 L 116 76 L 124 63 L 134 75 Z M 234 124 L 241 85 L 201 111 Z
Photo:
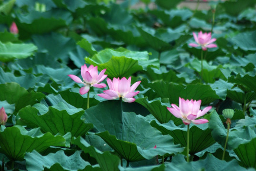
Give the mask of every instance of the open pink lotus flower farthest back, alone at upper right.
M 200 31 L 197 37 L 197 35 L 193 32 L 193 36 L 197 44 L 189 43 L 189 46 L 192 46 L 192 47 L 201 46 L 203 50 L 206 50 L 207 47 L 208 48 L 217 47 L 217 45 L 211 44 L 212 42 L 216 41 L 216 38 L 212 38 L 211 33 L 207 34 L 207 33 L 202 33 L 202 31 Z

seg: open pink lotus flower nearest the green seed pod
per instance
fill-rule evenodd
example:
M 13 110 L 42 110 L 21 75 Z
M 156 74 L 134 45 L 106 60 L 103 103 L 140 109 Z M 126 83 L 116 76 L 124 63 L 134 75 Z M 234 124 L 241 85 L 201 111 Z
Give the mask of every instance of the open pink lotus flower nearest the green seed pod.
M 207 119 L 197 119 L 198 117 L 206 114 L 212 106 L 204 108 L 203 111 L 200 110 L 201 100 L 186 100 L 179 97 L 179 107 L 176 104 L 171 104 L 172 107 L 167 107 L 170 113 L 175 117 L 182 119 L 184 124 L 202 124 L 209 122 Z M 197 120 L 195 120 L 197 119 Z

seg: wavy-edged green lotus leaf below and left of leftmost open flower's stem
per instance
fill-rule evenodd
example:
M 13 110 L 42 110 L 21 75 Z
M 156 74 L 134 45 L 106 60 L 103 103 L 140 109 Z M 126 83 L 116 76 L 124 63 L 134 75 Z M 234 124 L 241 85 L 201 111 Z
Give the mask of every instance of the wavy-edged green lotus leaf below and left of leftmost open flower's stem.
M 63 106 L 63 105 L 62 105 Z M 72 109 L 72 113 L 67 106 L 60 109 L 49 107 L 46 114 L 38 115 L 39 109 L 31 106 L 24 107 L 20 110 L 20 120 L 17 122 L 27 125 L 30 128 L 40 127 L 43 133 L 52 133 L 54 135 L 61 133 L 71 133 L 72 136 L 78 137 L 85 135 L 93 125 L 84 123 L 81 120 L 81 115 L 84 114 L 83 110 Z

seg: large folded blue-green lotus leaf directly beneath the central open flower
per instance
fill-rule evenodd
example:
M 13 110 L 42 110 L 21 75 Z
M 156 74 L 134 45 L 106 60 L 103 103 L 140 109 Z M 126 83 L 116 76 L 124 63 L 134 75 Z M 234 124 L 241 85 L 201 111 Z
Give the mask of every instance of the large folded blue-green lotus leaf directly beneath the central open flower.
M 86 122 L 94 124 L 95 131 L 100 132 L 96 134 L 127 161 L 151 159 L 158 154 L 184 150 L 174 145 L 170 136 L 163 136 L 143 118 L 122 112 L 120 100 L 101 102 L 87 109 L 84 117 L 87 118 Z

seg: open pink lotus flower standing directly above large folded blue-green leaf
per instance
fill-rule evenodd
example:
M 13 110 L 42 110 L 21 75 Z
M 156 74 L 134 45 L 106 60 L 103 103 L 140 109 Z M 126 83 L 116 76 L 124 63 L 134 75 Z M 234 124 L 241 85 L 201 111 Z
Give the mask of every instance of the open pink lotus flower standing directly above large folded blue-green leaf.
M 113 82 L 111 79 L 107 78 L 109 90 L 104 90 L 103 93 L 98 94 L 98 96 L 113 100 L 117 98 L 122 98 L 124 102 L 134 102 L 135 98 L 133 96 L 138 95 L 139 91 L 134 92 L 135 89 L 140 84 L 140 81 L 137 81 L 131 86 L 131 76 L 126 79 L 123 77 L 122 79 L 113 78 Z

